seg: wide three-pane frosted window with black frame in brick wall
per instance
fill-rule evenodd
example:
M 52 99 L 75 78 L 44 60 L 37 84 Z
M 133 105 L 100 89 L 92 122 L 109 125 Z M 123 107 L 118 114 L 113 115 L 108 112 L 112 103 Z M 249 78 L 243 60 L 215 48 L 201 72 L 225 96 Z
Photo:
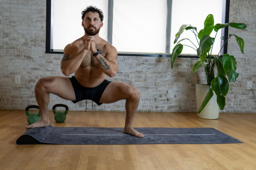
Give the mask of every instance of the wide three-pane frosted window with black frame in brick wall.
M 63 53 L 67 44 L 84 34 L 81 12 L 88 5 L 103 11 L 100 37 L 115 46 L 119 54 L 168 56 L 183 24 L 200 31 L 208 14 L 213 14 L 214 24 L 228 22 L 229 0 L 47 0 L 47 53 Z M 184 36 L 187 33 L 184 31 Z M 225 34 L 227 27 L 225 32 L 218 32 L 213 49 L 216 53 Z M 184 48 L 182 54 L 196 53 Z

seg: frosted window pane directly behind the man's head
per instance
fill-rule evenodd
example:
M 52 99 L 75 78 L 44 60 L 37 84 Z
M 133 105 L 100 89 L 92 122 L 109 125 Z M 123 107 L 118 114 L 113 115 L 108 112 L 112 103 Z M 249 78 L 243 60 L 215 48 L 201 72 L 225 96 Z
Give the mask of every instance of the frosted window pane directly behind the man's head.
M 64 49 L 74 40 L 82 37 L 81 12 L 89 5 L 100 8 L 104 14 L 100 37 L 107 40 L 107 0 L 53 0 L 53 49 Z

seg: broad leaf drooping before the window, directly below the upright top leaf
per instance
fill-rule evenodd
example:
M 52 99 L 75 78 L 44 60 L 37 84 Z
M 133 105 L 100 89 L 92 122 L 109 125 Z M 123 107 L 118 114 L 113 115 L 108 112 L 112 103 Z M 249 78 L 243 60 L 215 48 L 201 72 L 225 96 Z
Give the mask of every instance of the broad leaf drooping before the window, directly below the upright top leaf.
M 211 46 L 214 43 L 214 38 L 210 36 L 202 36 L 199 43 L 199 48 L 197 48 L 197 56 L 202 62 L 206 59 L 207 53 L 209 53 Z

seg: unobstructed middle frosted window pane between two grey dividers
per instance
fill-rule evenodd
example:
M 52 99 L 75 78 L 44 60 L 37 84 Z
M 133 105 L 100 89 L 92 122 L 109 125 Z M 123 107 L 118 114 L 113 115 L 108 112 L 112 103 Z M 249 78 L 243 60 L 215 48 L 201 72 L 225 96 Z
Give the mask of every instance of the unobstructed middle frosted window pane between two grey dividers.
M 166 0 L 114 0 L 112 44 L 118 51 L 165 53 Z

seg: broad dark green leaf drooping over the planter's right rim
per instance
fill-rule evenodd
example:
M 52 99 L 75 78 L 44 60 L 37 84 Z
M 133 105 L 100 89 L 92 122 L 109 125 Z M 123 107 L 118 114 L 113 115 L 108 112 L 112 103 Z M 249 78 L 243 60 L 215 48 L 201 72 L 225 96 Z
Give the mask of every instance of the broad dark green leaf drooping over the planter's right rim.
M 227 95 L 229 88 L 227 78 L 224 75 L 219 74 L 211 81 L 211 88 L 217 96 L 217 103 L 220 109 L 223 110 L 226 104 L 225 95 Z

